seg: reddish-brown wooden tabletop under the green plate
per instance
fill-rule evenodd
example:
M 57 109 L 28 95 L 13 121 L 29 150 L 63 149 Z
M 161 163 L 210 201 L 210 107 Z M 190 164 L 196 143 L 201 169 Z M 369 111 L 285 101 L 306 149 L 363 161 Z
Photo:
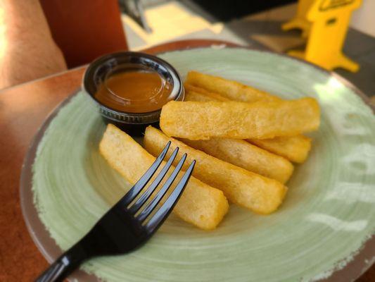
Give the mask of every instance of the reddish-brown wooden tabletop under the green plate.
M 216 40 L 184 40 L 145 51 L 156 54 L 212 44 L 236 46 Z M 84 70 L 85 67 L 75 68 L 0 91 L 0 281 L 32 281 L 48 265 L 32 242 L 23 221 L 19 197 L 20 172 L 32 137 L 46 116 L 79 89 Z M 375 267 L 357 281 L 375 281 Z

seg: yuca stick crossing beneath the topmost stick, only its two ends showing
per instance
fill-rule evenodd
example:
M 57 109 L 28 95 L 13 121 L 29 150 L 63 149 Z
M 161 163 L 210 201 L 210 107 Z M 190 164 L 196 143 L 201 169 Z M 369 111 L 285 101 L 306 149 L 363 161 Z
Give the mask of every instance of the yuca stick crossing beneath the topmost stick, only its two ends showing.
M 185 83 L 185 90 L 186 90 L 185 99 L 184 99 L 185 101 L 197 101 L 197 102 L 229 101 L 229 99 L 222 97 L 219 94 L 208 92 L 207 90 L 204 90 L 201 87 L 196 87 L 196 86 L 189 85 L 186 83 Z M 304 135 L 274 137 L 271 139 L 262 139 L 262 140 L 248 139 L 246 141 L 298 164 L 302 164 L 306 160 L 307 155 L 309 154 L 310 149 L 311 149 L 311 138 L 306 137 Z M 236 164 L 236 165 L 241 166 L 239 164 Z M 254 172 L 257 172 L 257 171 L 254 171 Z

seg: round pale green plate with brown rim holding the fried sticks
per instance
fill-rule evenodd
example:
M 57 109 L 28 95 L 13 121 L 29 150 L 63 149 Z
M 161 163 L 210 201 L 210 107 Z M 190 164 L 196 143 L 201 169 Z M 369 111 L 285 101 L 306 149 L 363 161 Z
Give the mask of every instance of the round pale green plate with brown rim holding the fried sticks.
M 317 67 L 265 51 L 193 49 L 160 57 L 182 77 L 196 70 L 286 99 L 314 97 L 322 125 L 274 214 L 260 216 L 232 204 L 211 232 L 172 215 L 141 249 L 92 259 L 84 271 L 104 281 L 338 281 L 340 269 L 356 278 L 374 262 L 375 118 L 352 88 Z M 46 121 L 30 149 L 23 212 L 49 261 L 129 189 L 98 153 L 104 128 L 91 100 L 77 93 Z

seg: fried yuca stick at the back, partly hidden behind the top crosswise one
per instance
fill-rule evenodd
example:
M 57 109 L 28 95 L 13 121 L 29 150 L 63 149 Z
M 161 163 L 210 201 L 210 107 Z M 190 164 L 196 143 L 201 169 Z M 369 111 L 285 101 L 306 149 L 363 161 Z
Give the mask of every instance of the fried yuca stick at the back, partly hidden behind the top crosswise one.
M 234 80 L 226 80 L 214 75 L 189 71 L 186 85 L 204 88 L 228 99 L 241 102 L 278 101 L 280 98 Z

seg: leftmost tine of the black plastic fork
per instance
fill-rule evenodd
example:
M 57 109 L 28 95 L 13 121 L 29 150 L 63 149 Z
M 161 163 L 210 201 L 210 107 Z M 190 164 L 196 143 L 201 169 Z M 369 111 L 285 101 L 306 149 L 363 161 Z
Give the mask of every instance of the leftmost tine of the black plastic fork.
M 135 197 L 139 194 L 139 192 L 141 192 L 141 190 L 151 179 L 155 171 L 158 169 L 165 155 L 167 154 L 169 148 L 170 148 L 170 141 L 167 142 L 167 145 L 165 145 L 163 151 L 155 159 L 155 161 L 150 166 L 150 168 L 148 168 L 148 170 L 144 173 L 144 175 L 134 184 L 132 189 L 130 189 L 129 192 L 127 192 L 126 195 L 122 197 L 120 202 L 118 202 L 117 204 L 127 206 L 135 199 Z

